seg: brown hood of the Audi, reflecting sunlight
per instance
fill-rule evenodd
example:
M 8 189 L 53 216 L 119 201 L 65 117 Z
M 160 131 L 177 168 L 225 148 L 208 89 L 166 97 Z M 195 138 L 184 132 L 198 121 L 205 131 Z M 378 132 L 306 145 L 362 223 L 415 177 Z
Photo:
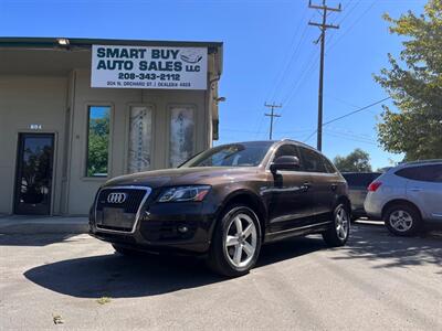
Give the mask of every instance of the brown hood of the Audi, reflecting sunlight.
M 246 173 L 255 173 L 257 168 L 225 168 L 225 167 L 199 167 L 178 168 L 137 172 L 116 177 L 106 182 L 104 186 L 137 185 L 152 189 L 176 185 L 212 185 L 219 182 L 234 181 Z

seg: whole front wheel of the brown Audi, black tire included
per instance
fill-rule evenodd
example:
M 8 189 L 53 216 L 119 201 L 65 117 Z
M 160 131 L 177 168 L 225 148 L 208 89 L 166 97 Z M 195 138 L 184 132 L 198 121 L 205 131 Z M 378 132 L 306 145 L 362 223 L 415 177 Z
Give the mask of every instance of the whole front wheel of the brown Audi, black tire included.
M 232 205 L 214 228 L 207 263 L 217 274 L 238 277 L 253 268 L 260 249 L 261 228 L 256 214 L 246 205 Z

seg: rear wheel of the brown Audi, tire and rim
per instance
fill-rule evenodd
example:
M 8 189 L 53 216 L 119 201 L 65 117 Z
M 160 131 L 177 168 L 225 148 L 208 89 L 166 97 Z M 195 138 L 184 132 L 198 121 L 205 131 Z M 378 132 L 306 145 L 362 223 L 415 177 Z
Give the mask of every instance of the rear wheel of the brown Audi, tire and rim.
M 330 247 L 344 246 L 350 235 L 350 216 L 345 204 L 336 206 L 334 213 L 333 226 L 323 233 L 324 242 Z

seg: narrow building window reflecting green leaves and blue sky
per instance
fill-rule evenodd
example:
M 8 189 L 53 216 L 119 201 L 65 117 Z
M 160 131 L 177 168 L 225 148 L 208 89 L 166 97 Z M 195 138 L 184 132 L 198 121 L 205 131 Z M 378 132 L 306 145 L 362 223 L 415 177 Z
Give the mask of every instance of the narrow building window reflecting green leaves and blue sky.
M 109 116 L 90 119 L 87 177 L 106 175 L 109 140 Z

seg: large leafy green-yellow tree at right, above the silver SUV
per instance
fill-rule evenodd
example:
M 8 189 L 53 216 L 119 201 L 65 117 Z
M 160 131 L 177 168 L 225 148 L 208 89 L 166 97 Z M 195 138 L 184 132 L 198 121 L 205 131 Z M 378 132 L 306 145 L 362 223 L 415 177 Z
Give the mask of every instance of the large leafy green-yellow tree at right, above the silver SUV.
M 442 158 L 442 0 L 430 0 L 419 17 L 385 19 L 406 41 L 399 61 L 388 54 L 391 68 L 375 76 L 399 109 L 383 106 L 379 142 L 407 161 Z

